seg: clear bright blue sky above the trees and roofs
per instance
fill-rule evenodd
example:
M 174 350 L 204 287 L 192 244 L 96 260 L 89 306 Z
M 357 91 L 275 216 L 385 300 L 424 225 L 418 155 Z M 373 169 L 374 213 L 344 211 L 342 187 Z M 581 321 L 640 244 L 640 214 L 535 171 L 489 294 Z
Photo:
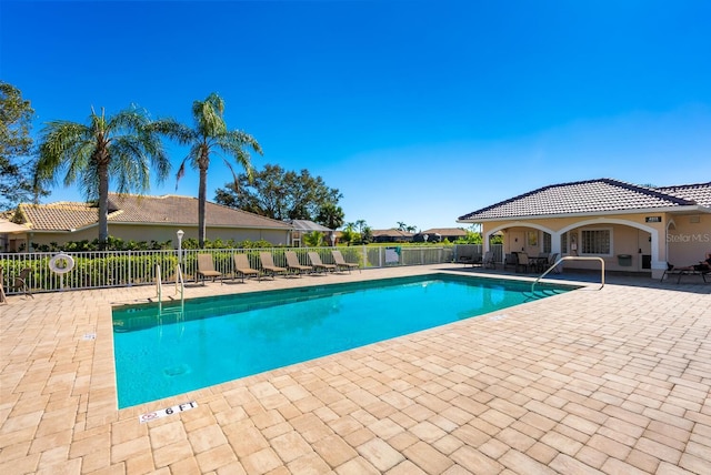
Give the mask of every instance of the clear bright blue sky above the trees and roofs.
M 0 78 L 34 133 L 92 105 L 191 123 L 218 92 L 256 168 L 322 176 L 347 221 L 425 230 L 553 183 L 710 181 L 709 18 L 697 0 L 3 0 Z M 208 198 L 229 180 L 214 158 Z

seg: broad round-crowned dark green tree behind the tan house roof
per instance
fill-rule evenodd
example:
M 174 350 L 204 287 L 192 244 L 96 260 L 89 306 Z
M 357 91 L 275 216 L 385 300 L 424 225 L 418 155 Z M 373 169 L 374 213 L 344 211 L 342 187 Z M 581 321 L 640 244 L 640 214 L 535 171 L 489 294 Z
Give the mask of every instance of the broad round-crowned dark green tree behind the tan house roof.
M 338 206 L 342 194 L 308 170 L 297 173 L 267 164 L 253 173 L 251 182 L 248 179 L 240 174 L 239 186 L 228 183 L 226 189 L 218 189 L 214 201 L 274 220 L 318 221 L 331 229 L 339 226 L 330 224 L 342 223 L 342 210 Z

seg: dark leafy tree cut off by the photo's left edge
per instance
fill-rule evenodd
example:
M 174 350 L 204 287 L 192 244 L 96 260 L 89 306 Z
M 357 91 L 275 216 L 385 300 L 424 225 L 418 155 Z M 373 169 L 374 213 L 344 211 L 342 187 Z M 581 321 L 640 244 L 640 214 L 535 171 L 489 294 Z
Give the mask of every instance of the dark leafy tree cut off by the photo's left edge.
M 13 208 L 32 195 L 32 115 L 22 92 L 0 81 L 0 210 Z M 37 194 L 46 194 L 37 190 Z

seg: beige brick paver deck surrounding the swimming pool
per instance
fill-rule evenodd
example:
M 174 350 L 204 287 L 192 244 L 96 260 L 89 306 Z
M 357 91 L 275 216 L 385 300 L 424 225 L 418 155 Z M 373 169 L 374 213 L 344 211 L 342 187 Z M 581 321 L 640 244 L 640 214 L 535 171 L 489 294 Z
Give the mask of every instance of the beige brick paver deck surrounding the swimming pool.
M 432 271 L 463 270 L 187 296 Z M 711 284 L 622 282 L 121 411 L 111 304 L 153 289 L 10 296 L 0 473 L 711 474 Z M 138 420 L 188 401 L 198 407 Z

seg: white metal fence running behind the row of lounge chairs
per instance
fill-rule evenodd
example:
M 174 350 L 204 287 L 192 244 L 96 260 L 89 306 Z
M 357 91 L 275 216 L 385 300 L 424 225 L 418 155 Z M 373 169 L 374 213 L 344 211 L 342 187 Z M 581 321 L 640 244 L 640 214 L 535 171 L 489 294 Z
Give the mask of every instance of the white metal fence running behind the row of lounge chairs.
M 194 281 L 198 254 L 212 254 L 214 269 L 226 276 L 233 274 L 232 254 L 246 253 L 253 269 L 260 269 L 260 252 L 271 252 L 274 263 L 287 266 L 286 251 L 294 251 L 302 264 L 310 264 L 307 252 L 316 251 L 324 264 L 332 264 L 332 247 L 273 247 L 273 249 L 220 249 L 182 250 L 182 269 L 186 281 Z M 481 254 L 481 245 L 449 246 L 339 246 L 346 261 L 357 262 L 361 269 L 393 265 L 424 265 L 457 262 L 460 255 Z M 54 253 L 0 253 L 2 284 L 7 294 L 22 293 L 16 286 L 16 277 L 24 269 L 29 290 L 54 292 L 59 290 L 83 290 L 149 285 L 156 282 L 156 265 L 160 264 L 163 282 L 174 282 L 178 251 L 106 251 L 68 252 L 73 260 L 73 269 L 66 274 L 57 274 L 49 269 Z M 499 250 L 500 254 L 500 250 Z

